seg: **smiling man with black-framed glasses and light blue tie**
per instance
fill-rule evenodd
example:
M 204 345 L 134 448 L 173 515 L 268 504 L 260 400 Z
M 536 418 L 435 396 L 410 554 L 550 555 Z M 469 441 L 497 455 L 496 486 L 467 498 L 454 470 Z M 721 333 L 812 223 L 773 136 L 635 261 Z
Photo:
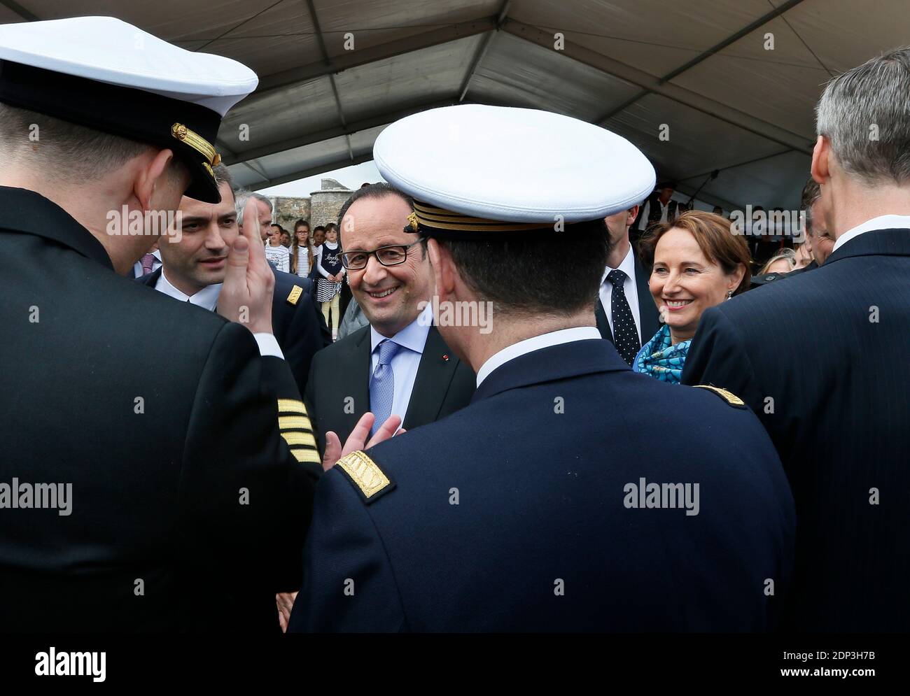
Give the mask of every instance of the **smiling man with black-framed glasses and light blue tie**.
M 414 429 L 467 406 L 474 373 L 433 326 L 433 275 L 423 242 L 408 231 L 410 197 L 388 184 L 359 188 L 339 213 L 342 264 L 369 326 L 313 358 L 306 401 L 325 451 L 370 411 Z

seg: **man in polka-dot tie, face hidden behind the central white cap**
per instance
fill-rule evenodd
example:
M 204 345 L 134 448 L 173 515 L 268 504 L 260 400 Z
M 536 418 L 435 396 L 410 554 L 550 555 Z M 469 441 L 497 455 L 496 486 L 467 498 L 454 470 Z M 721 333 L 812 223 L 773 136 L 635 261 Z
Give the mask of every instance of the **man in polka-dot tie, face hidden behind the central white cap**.
M 639 348 L 661 326 L 648 288 L 649 271 L 642 267 L 637 249 L 629 241 L 630 227 L 637 216 L 638 206 L 632 206 L 604 220 L 610 235 L 610 257 L 594 305 L 601 338 L 616 347 L 626 365 L 632 365 Z

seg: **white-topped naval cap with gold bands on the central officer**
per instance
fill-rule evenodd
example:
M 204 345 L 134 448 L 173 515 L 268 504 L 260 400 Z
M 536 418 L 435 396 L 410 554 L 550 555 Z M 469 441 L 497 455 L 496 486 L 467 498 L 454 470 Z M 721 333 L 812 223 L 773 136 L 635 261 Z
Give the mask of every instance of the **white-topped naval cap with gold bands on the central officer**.
M 373 146 L 379 173 L 414 198 L 412 224 L 439 237 L 594 220 L 642 202 L 654 167 L 622 136 L 571 116 L 445 106 L 407 116 Z

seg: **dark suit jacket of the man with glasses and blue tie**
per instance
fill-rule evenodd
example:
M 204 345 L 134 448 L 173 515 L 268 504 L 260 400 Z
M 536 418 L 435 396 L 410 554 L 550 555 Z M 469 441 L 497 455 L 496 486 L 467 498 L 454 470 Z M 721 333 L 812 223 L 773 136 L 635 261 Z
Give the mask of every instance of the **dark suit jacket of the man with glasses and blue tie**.
M 320 351 L 313 360 L 305 400 L 319 437 L 319 451 L 325 450 L 329 430 L 344 444 L 369 411 L 369 346 L 367 325 Z M 455 357 L 439 330 L 430 327 L 403 427 L 414 429 L 467 406 L 474 384 L 471 369 Z

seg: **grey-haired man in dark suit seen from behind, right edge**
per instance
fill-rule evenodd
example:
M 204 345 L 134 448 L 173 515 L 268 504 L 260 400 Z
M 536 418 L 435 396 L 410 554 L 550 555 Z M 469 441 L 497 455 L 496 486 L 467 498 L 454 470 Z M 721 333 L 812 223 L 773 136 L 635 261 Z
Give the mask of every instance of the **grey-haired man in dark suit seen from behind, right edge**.
M 682 373 L 743 398 L 784 462 L 794 630 L 910 630 L 908 103 L 908 49 L 828 84 L 812 176 L 834 251 L 706 311 Z

